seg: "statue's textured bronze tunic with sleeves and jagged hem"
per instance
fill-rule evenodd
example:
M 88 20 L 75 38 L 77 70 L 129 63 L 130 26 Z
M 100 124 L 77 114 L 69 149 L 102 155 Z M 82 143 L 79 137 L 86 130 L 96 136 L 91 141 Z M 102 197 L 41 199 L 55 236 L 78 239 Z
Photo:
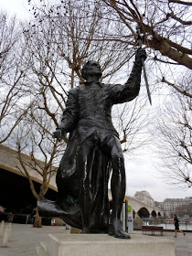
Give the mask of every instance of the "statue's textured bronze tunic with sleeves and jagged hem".
M 134 64 L 132 74 L 123 85 L 84 83 L 69 91 L 60 128 L 64 133 L 77 129 L 80 142 L 96 133 L 103 141 L 108 135 L 118 136 L 112 125 L 112 105 L 132 101 L 139 93 L 141 65 Z

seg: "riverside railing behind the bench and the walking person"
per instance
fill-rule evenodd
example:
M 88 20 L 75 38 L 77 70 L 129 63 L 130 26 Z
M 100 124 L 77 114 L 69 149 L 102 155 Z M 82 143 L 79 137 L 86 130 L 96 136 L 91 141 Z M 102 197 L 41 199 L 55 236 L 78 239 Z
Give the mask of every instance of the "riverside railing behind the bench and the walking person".
M 161 226 L 164 229 L 175 229 L 173 219 L 133 219 L 134 229 L 139 229 L 143 225 Z M 179 220 L 179 229 L 192 231 L 192 220 Z

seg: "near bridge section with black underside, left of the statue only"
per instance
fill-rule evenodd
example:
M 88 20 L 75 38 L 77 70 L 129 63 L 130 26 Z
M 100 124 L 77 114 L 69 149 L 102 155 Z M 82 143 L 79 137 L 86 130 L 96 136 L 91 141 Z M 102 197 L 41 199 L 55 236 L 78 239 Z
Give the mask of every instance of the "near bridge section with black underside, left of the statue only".
M 23 161 L 31 177 L 36 191 L 39 191 L 42 184 L 42 176 L 33 168 L 31 155 L 23 155 Z M 37 160 L 37 166 L 44 166 L 45 163 Z M 51 166 L 53 170 L 55 166 Z M 27 176 L 22 171 L 16 150 L 0 144 L 0 206 L 5 211 L 13 213 L 31 213 L 37 206 L 37 200 L 33 196 Z M 57 187 L 55 182 L 56 171 L 51 173 L 46 197 L 50 200 L 57 199 Z

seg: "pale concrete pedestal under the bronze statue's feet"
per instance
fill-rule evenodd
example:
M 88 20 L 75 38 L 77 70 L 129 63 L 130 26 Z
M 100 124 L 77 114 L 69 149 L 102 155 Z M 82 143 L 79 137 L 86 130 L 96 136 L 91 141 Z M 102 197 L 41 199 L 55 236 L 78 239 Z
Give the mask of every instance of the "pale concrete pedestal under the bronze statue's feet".
M 49 234 L 38 256 L 176 256 L 175 242 L 160 237 L 132 234 L 131 240 L 95 234 Z

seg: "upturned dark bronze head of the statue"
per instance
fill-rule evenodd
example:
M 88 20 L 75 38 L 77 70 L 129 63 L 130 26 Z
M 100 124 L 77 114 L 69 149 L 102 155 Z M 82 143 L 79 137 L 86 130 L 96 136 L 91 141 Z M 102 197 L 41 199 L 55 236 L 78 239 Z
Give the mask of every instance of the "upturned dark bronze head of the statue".
M 101 66 L 94 60 L 89 60 L 81 70 L 81 76 L 84 80 L 89 80 L 91 76 L 98 76 L 98 80 L 101 78 Z

